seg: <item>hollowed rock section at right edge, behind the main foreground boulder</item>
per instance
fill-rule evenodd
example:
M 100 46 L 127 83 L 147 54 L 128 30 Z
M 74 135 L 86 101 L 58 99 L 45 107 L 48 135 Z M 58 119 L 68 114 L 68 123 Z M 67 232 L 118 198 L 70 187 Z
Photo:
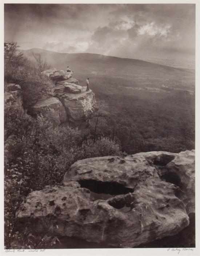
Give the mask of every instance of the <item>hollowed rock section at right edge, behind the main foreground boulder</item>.
M 135 154 L 135 156 L 139 156 Z M 172 159 L 174 156 L 174 159 Z M 187 212 L 195 212 L 195 150 L 182 151 L 179 154 L 169 152 L 147 152 L 143 157 L 150 159 L 159 166 L 159 176 L 162 180 L 171 182 L 181 188 L 181 200 L 186 205 Z M 172 159 L 172 161 L 169 161 Z

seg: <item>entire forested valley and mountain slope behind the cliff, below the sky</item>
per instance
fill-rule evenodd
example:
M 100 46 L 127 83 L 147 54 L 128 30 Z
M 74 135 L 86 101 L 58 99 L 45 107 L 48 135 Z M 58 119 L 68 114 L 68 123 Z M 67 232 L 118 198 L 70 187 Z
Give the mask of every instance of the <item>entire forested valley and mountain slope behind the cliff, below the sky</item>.
M 127 153 L 195 147 L 195 72 L 141 60 L 97 54 L 60 54 L 32 49 L 61 69 L 74 68 L 79 84 L 89 76 L 101 101 L 98 123 L 90 121 L 95 137 L 106 135 Z

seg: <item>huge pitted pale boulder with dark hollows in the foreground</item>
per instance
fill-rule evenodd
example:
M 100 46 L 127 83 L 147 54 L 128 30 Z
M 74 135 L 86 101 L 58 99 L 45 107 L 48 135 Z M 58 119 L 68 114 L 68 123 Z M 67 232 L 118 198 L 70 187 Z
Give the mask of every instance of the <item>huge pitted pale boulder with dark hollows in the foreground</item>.
M 63 184 L 28 195 L 19 227 L 113 247 L 142 246 L 189 225 L 194 172 L 194 150 L 83 159 Z

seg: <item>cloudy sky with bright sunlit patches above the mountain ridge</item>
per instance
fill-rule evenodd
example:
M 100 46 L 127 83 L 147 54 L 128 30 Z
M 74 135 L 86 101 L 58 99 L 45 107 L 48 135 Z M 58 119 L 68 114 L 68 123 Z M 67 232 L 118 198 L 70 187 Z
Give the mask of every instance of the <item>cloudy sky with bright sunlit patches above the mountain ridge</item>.
M 24 50 L 194 60 L 194 4 L 5 4 L 4 17 Z

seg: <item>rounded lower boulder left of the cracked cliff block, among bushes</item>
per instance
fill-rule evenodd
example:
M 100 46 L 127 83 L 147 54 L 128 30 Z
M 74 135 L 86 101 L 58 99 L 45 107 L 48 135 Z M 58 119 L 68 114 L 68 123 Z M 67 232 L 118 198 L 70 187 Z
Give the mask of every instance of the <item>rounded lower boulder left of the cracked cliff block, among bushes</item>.
M 46 115 L 48 113 L 54 112 L 55 115 L 59 118 L 59 122 L 66 122 L 67 115 L 65 112 L 65 107 L 60 102 L 59 99 L 55 97 L 49 97 L 47 99 L 41 99 L 36 103 L 36 105 L 32 108 L 33 114 L 43 114 Z

